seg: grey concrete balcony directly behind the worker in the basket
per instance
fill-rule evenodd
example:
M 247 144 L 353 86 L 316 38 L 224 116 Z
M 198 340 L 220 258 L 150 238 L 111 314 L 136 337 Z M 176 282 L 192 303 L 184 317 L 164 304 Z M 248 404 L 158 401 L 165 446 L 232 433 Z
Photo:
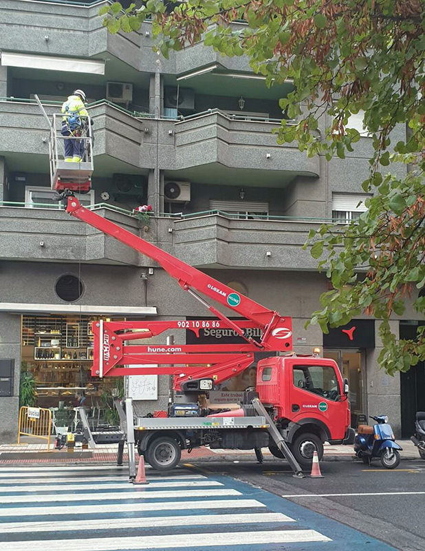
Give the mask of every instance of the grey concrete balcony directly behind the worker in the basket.
M 60 107 L 45 106 L 49 116 Z M 124 110 L 100 103 L 89 107 L 94 120 L 94 160 L 96 176 L 110 176 L 113 171 L 137 173 L 153 168 L 156 155 L 156 132 L 164 136 L 163 145 L 173 143 L 167 127 L 151 119 L 131 116 Z M 11 170 L 48 172 L 49 128 L 34 103 L 0 101 L 0 155 Z

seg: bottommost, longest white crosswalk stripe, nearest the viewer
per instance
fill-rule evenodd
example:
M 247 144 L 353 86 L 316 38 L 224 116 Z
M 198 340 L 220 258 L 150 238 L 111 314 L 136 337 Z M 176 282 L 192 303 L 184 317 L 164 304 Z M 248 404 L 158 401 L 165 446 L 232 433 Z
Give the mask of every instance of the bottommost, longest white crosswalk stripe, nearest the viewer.
M 316 530 L 271 530 L 261 532 L 215 532 L 205 534 L 172 534 L 168 536 L 137 536 L 124 538 L 91 538 L 91 539 L 49 539 L 25 541 L 31 551 L 61 549 L 67 551 L 116 551 L 140 549 L 171 549 L 171 548 L 204 548 L 212 545 L 250 545 L 256 543 L 301 543 L 307 541 L 331 541 Z M 21 551 L 22 541 L 2 543 L 2 551 Z

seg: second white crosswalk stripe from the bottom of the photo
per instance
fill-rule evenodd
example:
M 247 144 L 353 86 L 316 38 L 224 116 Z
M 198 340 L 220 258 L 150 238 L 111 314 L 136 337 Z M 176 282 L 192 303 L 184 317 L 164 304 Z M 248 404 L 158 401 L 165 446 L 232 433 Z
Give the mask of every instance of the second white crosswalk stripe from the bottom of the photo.
M 246 524 L 264 522 L 294 522 L 280 512 L 263 512 L 254 514 L 194 514 L 181 517 L 142 517 L 137 519 L 96 519 L 96 521 L 77 521 L 78 530 L 109 530 L 111 528 L 159 528 L 160 526 L 196 526 L 204 524 Z M 65 532 L 75 530 L 76 522 L 51 520 L 44 522 L 8 522 L 0 523 L 0 533 L 10 532 Z M 29 546 L 31 548 L 31 545 Z

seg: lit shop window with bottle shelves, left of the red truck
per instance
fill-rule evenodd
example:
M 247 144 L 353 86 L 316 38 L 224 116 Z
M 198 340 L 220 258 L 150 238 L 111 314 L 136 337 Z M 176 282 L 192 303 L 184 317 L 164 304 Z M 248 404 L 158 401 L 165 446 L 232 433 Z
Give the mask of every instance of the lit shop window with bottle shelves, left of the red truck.
M 21 371 L 34 379 L 34 405 L 50 408 L 56 424 L 69 425 L 76 406 L 85 406 L 98 422 L 112 420 L 115 413 L 112 390 L 122 380 L 91 375 L 92 320 L 76 315 L 22 316 Z

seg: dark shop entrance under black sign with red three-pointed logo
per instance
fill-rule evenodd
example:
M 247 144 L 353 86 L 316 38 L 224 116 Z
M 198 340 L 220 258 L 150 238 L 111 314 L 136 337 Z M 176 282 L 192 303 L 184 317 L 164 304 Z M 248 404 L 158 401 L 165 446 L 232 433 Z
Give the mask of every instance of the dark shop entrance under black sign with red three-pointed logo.
M 329 329 L 329 333 L 323 335 L 323 356 L 335 360 L 342 377 L 349 382 L 348 398 L 353 427 L 358 425 L 360 416 L 367 415 L 366 351 L 374 347 L 373 320 L 352 320 L 347 325 Z

